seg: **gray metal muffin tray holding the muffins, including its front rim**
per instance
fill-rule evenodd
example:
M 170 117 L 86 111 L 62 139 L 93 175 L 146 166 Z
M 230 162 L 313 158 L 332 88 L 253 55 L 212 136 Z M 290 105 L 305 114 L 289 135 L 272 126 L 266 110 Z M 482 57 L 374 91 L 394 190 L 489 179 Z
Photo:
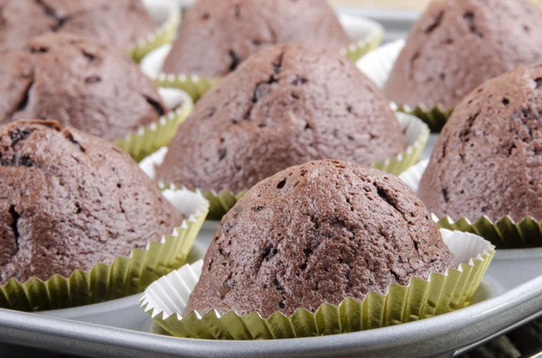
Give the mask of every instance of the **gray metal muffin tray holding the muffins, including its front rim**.
M 215 228 L 216 223 L 206 223 L 199 243 L 210 243 Z M 0 342 L 93 357 L 452 356 L 539 315 L 542 249 L 498 252 L 478 291 L 478 303 L 470 308 L 344 335 L 253 342 L 174 338 L 139 308 L 138 299 L 39 314 L 0 309 Z M 10 349 L 12 355 L 4 354 Z M 0 345 L 0 356 L 14 352 Z

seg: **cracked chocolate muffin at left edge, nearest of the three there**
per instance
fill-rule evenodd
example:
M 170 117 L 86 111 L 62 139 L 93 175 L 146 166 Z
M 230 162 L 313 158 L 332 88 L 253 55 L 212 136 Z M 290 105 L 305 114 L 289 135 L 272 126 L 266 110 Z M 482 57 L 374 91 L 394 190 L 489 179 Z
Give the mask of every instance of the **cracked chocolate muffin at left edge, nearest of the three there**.
M 0 192 L 0 284 L 69 277 L 182 224 L 129 155 L 57 122 L 0 127 Z

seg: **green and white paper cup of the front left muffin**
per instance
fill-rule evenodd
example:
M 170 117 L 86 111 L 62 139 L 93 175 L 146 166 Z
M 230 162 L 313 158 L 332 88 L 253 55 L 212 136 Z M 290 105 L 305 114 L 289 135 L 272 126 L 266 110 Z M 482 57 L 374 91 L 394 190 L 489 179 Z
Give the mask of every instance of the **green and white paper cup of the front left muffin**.
M 0 286 L 0 308 L 42 311 L 73 308 L 142 292 L 151 282 L 181 267 L 191 251 L 209 211 L 201 195 L 188 190 L 166 190 L 164 197 L 187 219 L 161 242 L 149 242 L 130 256 L 117 256 L 111 264 L 97 263 L 90 271 L 74 271 L 69 278 L 8 280 Z

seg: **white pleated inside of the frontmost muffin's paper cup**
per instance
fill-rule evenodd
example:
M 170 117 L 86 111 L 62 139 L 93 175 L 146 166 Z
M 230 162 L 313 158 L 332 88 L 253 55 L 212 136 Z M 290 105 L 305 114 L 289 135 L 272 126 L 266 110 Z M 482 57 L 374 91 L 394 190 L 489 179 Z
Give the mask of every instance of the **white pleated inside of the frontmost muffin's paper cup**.
M 444 243 L 460 263 L 458 271 L 463 271 L 461 263 L 473 266 L 474 259 L 483 260 L 481 255 L 491 255 L 491 252 L 494 252 L 495 247 L 478 235 L 446 229 L 441 229 L 440 232 Z M 153 318 L 162 315 L 161 318 L 165 320 L 175 314 L 177 319 L 181 320 L 182 311 L 186 308 L 190 294 L 201 275 L 202 264 L 203 262 L 199 261 L 184 265 L 181 269 L 154 281 L 139 300 L 140 307 Z M 447 275 L 448 271 L 444 273 L 444 276 Z M 431 278 L 427 281 L 430 280 Z M 410 281 L 407 286 L 410 286 Z M 217 311 L 214 313 L 220 317 Z M 198 317 L 201 318 L 200 315 Z

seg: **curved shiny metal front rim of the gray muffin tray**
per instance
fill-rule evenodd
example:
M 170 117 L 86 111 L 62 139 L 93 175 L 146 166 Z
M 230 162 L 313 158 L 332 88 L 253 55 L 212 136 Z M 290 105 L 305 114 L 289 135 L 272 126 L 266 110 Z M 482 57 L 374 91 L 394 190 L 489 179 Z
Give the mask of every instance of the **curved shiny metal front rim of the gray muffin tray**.
M 452 333 L 461 331 L 461 335 L 453 337 L 453 343 L 448 342 L 450 349 L 455 351 L 502 331 L 516 323 L 518 315 L 521 316 L 520 319 L 525 319 L 537 314 L 541 306 L 542 276 L 469 308 L 417 322 L 342 335 L 235 342 L 174 338 L 0 309 L 0 341 L 34 347 L 36 346 L 34 344 L 37 344 L 39 347 L 40 338 L 48 339 L 53 336 L 77 342 L 73 346 L 85 346 L 85 352 L 94 351 L 102 355 L 107 352 L 107 347 L 117 347 L 145 354 L 181 354 L 180 356 L 186 357 L 238 357 L 247 354 L 313 357 L 330 352 L 341 352 L 341 355 L 345 356 L 360 353 L 370 356 L 378 356 L 380 353 L 394 356 L 399 351 L 404 354 L 406 349 L 412 352 L 416 350 L 418 356 L 426 356 L 450 351 L 435 352 L 434 345 L 438 344 L 420 344 L 422 341 L 428 339 L 437 341 L 443 339 L 444 335 L 450 338 Z M 487 321 L 497 316 L 500 317 L 500 322 L 498 324 L 493 322 L 490 330 L 479 328 L 481 325 L 488 325 Z M 514 316 L 516 319 L 510 323 L 509 318 Z M 63 348 L 59 342 L 52 344 L 56 344 L 54 348 L 62 353 L 80 353 L 66 350 L 66 344 L 63 344 Z M 277 349 L 277 346 L 280 348 Z

